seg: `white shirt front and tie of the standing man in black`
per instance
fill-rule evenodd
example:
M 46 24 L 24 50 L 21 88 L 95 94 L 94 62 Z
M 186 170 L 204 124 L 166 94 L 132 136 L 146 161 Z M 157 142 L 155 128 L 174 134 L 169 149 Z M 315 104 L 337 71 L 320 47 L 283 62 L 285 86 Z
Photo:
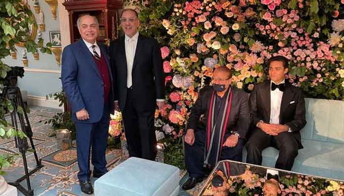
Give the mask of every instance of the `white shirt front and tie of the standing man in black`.
M 132 70 L 133 70 L 133 64 L 134 64 L 134 57 L 135 57 L 135 51 L 136 46 L 138 43 L 139 38 L 139 32 L 136 32 L 136 34 L 133 37 L 129 37 L 125 35 L 125 56 L 127 58 L 127 87 L 132 86 Z

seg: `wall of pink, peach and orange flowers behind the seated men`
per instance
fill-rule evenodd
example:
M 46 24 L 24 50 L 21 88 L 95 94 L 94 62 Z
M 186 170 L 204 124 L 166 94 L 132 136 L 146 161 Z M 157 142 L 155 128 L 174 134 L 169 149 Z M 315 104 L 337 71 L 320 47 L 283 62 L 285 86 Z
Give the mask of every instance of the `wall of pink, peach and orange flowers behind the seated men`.
M 283 55 L 290 61 L 286 79 L 306 97 L 343 100 L 343 3 L 130 0 L 127 6 L 139 11 L 140 32 L 162 46 L 167 105 L 155 113 L 155 125 L 165 147 L 181 144 L 198 92 L 211 85 L 218 66 L 232 70 L 233 86 L 250 92 L 268 78 L 266 61 Z M 180 160 L 170 164 L 181 167 Z

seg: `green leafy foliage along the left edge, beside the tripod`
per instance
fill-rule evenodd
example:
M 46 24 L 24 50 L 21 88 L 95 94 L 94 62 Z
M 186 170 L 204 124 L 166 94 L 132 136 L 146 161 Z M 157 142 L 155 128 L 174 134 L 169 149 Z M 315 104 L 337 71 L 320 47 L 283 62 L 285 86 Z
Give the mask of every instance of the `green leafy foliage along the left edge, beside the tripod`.
M 37 43 L 29 39 L 29 26 L 36 25 L 31 19 L 32 12 L 28 7 L 20 4 L 22 0 L 1 0 L 0 1 L 0 94 L 5 85 L 7 72 L 11 67 L 2 62 L 2 58 L 10 55 L 10 50 L 16 50 L 15 44 L 20 41 L 28 52 L 36 52 L 39 47 Z M 43 42 L 43 40 L 40 40 Z M 48 48 L 41 48 L 41 52 L 50 53 Z M 13 105 L 6 98 L 0 98 L 0 139 L 14 136 L 26 137 L 22 131 L 17 131 L 11 127 L 4 119 L 6 112 L 12 112 Z M 18 107 L 18 112 L 23 113 L 22 107 Z M 6 169 L 13 161 L 13 156 L 0 155 L 0 175 L 4 175 Z

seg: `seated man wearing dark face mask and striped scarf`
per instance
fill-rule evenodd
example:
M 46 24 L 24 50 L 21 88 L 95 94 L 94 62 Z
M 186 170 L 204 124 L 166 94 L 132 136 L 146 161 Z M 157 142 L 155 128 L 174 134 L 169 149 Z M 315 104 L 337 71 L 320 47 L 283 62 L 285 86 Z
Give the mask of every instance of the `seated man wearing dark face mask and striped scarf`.
M 201 89 L 191 109 L 185 135 L 185 165 L 190 178 L 184 190 L 201 182 L 204 169 L 213 168 L 218 161 L 242 160 L 250 125 L 248 95 L 230 87 L 231 76 L 227 67 L 216 68 L 212 86 Z

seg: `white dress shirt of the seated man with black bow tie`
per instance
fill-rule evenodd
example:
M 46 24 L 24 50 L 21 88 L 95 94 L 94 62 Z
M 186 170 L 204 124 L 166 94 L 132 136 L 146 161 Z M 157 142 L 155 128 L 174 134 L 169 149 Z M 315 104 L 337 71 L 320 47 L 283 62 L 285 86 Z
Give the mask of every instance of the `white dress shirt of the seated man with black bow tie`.
M 281 101 L 283 96 L 283 91 L 276 88 L 274 91 L 271 91 L 271 84 L 270 83 L 270 123 L 279 124 L 280 123 L 280 110 L 281 110 Z M 275 83 L 275 82 L 273 82 Z M 280 82 L 279 84 L 284 84 L 285 80 Z M 276 84 L 276 83 L 275 83 Z M 278 85 L 278 84 L 277 84 Z

